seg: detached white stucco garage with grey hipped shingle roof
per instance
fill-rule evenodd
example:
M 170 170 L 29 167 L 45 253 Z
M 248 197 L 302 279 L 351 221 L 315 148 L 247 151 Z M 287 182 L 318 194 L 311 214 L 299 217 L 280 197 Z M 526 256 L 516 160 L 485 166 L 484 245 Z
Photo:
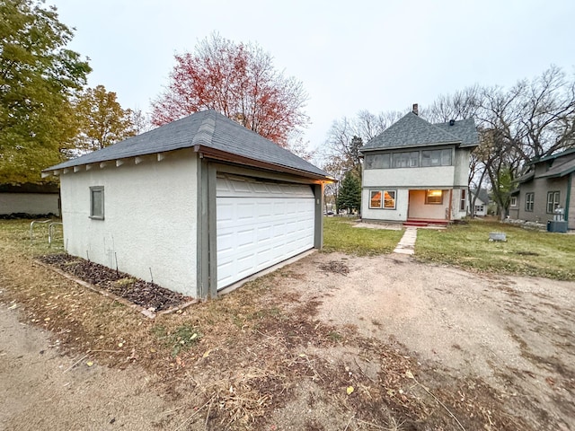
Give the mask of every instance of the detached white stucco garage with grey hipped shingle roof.
M 214 110 L 44 174 L 60 176 L 69 253 L 197 298 L 321 248 L 332 181 Z

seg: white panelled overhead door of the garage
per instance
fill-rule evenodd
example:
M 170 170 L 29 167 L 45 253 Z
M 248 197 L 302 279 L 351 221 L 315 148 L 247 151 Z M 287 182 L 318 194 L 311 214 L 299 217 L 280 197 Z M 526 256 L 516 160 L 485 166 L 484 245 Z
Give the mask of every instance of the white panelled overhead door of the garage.
M 314 247 L 308 185 L 217 178 L 217 289 Z

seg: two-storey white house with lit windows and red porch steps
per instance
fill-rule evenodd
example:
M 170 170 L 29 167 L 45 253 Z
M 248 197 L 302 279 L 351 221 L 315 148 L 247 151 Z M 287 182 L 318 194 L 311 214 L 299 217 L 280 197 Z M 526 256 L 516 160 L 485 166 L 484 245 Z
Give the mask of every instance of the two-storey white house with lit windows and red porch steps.
M 413 111 L 361 148 L 361 215 L 405 225 L 447 224 L 467 214 L 473 119 L 431 124 Z

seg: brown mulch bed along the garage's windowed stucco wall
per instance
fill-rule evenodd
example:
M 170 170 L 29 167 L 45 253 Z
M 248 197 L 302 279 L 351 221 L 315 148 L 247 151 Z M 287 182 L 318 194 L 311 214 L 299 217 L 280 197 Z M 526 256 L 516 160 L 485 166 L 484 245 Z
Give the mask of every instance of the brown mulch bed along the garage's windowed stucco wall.
M 155 283 L 131 277 L 124 272 L 69 254 L 49 254 L 38 259 L 131 303 L 136 303 L 150 312 L 170 310 L 192 300 L 189 296 L 178 294 Z

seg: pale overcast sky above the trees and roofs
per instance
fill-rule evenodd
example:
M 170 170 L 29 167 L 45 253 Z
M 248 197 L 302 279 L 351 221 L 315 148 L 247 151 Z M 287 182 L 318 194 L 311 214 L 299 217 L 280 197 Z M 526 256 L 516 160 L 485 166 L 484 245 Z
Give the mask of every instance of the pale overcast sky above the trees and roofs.
M 575 1 L 48 0 L 90 57 L 89 85 L 149 111 L 174 53 L 212 31 L 257 42 L 301 80 L 322 145 L 334 119 L 358 110 L 425 108 L 472 84 L 510 86 L 552 64 L 575 73 Z

